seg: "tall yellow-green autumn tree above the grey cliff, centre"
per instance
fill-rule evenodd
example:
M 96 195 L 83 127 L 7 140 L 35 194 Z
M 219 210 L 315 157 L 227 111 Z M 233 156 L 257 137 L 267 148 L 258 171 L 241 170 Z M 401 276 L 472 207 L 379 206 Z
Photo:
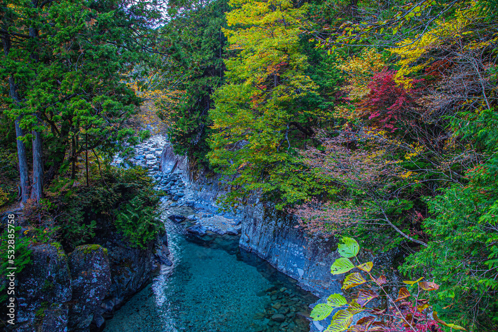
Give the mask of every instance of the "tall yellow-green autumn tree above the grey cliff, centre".
M 315 74 L 301 38 L 308 6 L 289 1 L 232 1 L 224 29 L 236 56 L 226 60 L 227 84 L 214 94 L 210 111 L 211 165 L 231 181 L 226 203 L 244 200 L 249 191 L 281 208 L 305 199 L 317 184 L 296 161 L 296 149 L 310 144 L 313 124 L 330 106 L 308 74 Z M 308 47 L 307 47 L 308 46 Z M 314 54 L 313 61 L 320 62 Z M 320 70 L 326 72 L 327 61 Z M 333 72 L 335 74 L 337 72 Z M 326 78 L 334 75 L 326 75 Z M 333 81 L 333 79 L 331 79 Z

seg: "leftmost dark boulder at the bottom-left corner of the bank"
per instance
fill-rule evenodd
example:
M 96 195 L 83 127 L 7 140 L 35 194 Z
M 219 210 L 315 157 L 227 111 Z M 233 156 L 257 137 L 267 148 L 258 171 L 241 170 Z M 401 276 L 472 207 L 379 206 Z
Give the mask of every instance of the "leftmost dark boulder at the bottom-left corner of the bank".
M 31 263 L 16 274 L 16 331 L 67 331 L 72 292 L 67 256 L 50 244 L 30 246 L 29 250 Z

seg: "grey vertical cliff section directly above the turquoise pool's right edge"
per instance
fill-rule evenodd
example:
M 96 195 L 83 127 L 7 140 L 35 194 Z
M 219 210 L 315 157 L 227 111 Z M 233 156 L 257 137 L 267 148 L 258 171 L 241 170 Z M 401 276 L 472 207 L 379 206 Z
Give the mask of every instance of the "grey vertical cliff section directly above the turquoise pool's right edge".
M 239 245 L 298 280 L 303 289 L 317 296 L 328 295 L 338 285 L 338 278 L 330 273 L 339 257 L 338 241 L 308 238 L 297 224 L 295 218 L 253 199 L 243 211 Z

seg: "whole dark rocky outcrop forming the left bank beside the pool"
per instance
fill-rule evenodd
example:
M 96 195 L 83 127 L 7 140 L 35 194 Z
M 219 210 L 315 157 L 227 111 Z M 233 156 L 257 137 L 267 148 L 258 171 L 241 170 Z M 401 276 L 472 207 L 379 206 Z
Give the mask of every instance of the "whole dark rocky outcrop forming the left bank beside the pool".
M 17 283 L 16 324 L 7 331 L 100 331 L 106 318 L 148 284 L 159 257 L 169 253 L 165 232 L 144 249 L 131 247 L 113 231 L 93 241 L 68 255 L 55 244 L 30 248 L 31 263 Z

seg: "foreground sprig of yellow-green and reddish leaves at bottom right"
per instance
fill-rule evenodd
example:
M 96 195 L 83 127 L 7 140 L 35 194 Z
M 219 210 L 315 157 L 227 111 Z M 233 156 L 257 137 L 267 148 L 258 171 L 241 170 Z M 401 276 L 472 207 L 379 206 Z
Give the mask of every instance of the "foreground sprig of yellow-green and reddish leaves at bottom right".
M 348 293 L 348 297 L 353 297 L 350 300 L 341 294 L 332 294 L 328 297 L 327 303 L 318 304 L 313 308 L 311 317 L 314 321 L 322 321 L 334 313 L 332 322 L 326 331 L 441 332 L 439 325 L 455 330 L 465 330 L 460 326 L 445 323 L 437 317 L 435 312 L 432 313 L 432 318 L 429 317 L 432 311 L 429 309 L 428 301 L 422 299 L 422 296 L 425 295 L 425 291 L 437 290 L 438 285 L 433 282 L 421 282 L 422 278 L 416 281 L 404 281 L 405 284 L 410 285 L 412 292 L 410 293 L 406 287 L 400 287 L 398 297 L 391 297 L 392 285 L 387 284 L 386 277 L 381 275 L 376 278 L 371 273 L 373 262 L 354 266 L 350 261 L 349 258 L 354 258 L 360 263 L 357 258 L 360 249 L 358 242 L 351 237 L 344 237 L 342 241 L 344 243 L 340 244 L 338 252 L 343 257 L 337 259 L 332 265 L 332 274 L 342 274 L 356 267 L 364 273 L 354 272 L 347 275 L 342 289 L 347 290 L 360 285 L 364 287 L 354 294 Z M 364 275 L 370 277 L 370 280 L 366 280 Z M 367 306 L 379 297 L 387 300 L 386 306 L 381 302 Z M 363 318 L 353 324 L 354 316 L 360 313 L 363 314 Z

